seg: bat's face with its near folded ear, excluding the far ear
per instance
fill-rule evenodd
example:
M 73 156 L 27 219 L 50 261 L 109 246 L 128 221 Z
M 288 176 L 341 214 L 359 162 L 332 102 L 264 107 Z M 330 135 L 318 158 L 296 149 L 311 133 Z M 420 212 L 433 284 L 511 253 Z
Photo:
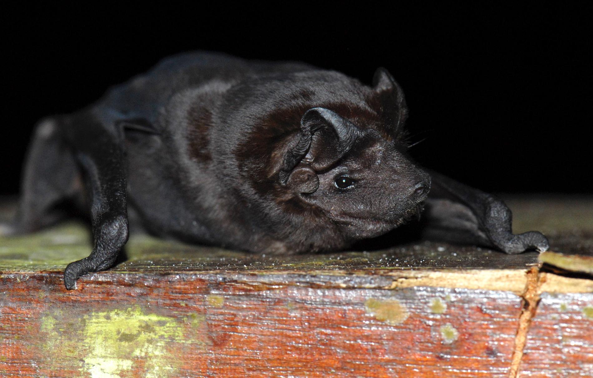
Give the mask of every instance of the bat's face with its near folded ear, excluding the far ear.
M 431 179 L 393 140 L 325 108 L 308 110 L 302 125 L 278 177 L 300 201 L 356 239 L 385 233 L 419 211 Z

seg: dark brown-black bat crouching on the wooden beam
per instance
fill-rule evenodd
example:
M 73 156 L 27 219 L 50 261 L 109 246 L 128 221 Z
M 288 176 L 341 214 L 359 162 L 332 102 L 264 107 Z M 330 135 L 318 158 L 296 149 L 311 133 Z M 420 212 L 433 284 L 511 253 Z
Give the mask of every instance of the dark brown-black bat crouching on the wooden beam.
M 114 264 L 129 220 L 161 237 L 289 254 L 342 250 L 422 211 L 433 239 L 548 249 L 537 231 L 512 234 L 499 199 L 414 163 L 406 117 L 384 68 L 365 85 L 299 62 L 173 56 L 39 122 L 5 233 L 88 214 L 93 250 L 66 266 L 68 289 Z

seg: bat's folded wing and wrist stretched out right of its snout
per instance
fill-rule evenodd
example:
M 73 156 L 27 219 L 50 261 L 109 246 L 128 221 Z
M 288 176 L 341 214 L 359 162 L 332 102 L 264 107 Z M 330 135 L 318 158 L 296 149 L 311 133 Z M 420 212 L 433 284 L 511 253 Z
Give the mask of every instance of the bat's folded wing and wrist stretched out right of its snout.
M 429 239 L 492 246 L 509 254 L 549 248 L 537 231 L 514 235 L 511 210 L 500 199 L 442 174 L 431 172 L 431 176 L 423 214 L 423 233 Z

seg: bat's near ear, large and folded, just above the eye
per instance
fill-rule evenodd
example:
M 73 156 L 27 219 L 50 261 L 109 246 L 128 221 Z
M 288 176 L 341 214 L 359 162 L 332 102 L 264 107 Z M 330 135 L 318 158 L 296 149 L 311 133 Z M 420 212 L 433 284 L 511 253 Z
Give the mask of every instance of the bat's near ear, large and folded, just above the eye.
M 319 186 L 315 172 L 336 164 L 361 134 L 358 127 L 336 112 L 323 107 L 307 110 L 301 118 L 301 131 L 294 136 L 284 153 L 280 183 L 298 183 L 307 190 L 314 188 L 314 192 Z

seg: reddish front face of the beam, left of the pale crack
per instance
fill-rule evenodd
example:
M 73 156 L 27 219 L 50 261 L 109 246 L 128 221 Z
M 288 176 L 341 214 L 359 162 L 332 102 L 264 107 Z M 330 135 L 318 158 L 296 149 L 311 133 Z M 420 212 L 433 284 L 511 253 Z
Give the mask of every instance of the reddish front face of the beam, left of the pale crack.
M 521 309 L 502 291 L 96 276 L 2 277 L 4 376 L 505 377 Z

